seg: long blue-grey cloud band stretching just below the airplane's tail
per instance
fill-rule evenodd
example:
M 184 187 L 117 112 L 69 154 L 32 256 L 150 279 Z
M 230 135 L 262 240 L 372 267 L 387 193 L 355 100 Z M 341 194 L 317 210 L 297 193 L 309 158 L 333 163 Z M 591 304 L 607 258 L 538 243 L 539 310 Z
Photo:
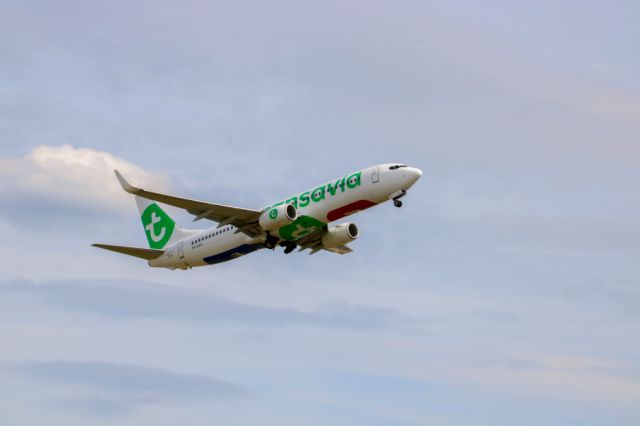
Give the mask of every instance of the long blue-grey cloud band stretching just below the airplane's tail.
M 111 318 L 177 319 L 197 323 L 232 322 L 258 327 L 381 329 L 413 321 L 388 308 L 324 304 L 312 311 L 261 306 L 144 282 L 29 281 L 0 283 L 0 292 L 29 294 L 65 309 Z

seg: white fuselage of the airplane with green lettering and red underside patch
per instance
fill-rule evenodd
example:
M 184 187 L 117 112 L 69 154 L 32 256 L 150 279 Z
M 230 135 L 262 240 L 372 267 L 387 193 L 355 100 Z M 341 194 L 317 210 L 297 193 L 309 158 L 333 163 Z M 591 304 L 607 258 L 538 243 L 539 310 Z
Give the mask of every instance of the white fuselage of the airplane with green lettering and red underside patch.
M 346 175 L 282 200 L 297 208 L 298 219 L 281 228 L 282 241 L 296 241 L 327 224 L 377 204 L 398 198 L 420 178 L 418 169 L 398 164 L 381 164 Z M 190 268 L 235 259 L 264 248 L 265 236 L 252 238 L 236 232 L 232 225 L 212 227 L 165 247 L 165 253 L 150 260 L 150 266 Z

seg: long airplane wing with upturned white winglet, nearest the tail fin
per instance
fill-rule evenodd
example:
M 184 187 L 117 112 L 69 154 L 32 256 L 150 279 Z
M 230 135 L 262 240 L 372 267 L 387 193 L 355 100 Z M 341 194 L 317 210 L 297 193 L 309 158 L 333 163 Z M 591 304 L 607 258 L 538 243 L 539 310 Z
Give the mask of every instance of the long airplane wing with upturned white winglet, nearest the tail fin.
M 120 185 L 122 185 L 122 189 L 128 193 L 184 209 L 195 216 L 194 221 L 209 219 L 218 222 L 218 226 L 233 225 L 237 227 L 240 232 L 244 232 L 250 237 L 257 237 L 262 233 L 260 226 L 258 226 L 258 219 L 260 218 L 260 214 L 262 214 L 260 210 L 207 203 L 205 201 L 190 200 L 188 198 L 147 191 L 130 185 L 120 172 L 117 170 L 114 170 L 114 172 Z

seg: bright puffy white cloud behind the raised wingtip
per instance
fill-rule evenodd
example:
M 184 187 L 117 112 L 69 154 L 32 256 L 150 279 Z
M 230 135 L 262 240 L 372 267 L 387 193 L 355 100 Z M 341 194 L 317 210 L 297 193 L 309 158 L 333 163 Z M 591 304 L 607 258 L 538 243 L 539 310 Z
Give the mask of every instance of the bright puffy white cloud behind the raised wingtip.
M 0 158 L 0 194 L 18 200 L 53 199 L 64 205 L 130 207 L 131 197 L 120 187 L 114 169 L 136 185 L 156 190 L 167 186 L 162 176 L 109 152 L 40 145 L 23 158 Z

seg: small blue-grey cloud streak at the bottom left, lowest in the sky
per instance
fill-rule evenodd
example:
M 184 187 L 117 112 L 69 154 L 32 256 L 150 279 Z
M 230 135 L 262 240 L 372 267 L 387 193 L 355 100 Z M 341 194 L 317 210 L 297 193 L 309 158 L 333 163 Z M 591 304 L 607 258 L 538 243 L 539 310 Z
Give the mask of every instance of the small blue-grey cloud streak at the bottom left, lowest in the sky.
M 205 375 L 102 361 L 37 361 L 10 367 L 14 373 L 71 392 L 56 397 L 57 405 L 99 417 L 131 412 L 143 405 L 178 404 L 242 398 L 250 392 Z

